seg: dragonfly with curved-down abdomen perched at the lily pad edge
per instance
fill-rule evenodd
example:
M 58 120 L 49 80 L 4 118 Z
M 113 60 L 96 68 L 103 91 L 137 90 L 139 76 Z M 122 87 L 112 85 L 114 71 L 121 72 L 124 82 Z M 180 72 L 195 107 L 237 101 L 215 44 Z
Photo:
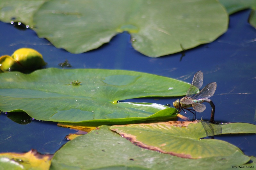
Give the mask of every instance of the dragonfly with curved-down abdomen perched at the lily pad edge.
M 185 112 L 184 109 L 186 109 L 189 112 L 193 113 L 194 114 L 193 119 L 194 118 L 196 119 L 196 112 L 203 112 L 206 108 L 205 105 L 202 103 L 208 102 L 212 107 L 210 122 L 217 124 L 214 121 L 215 105 L 213 104 L 212 100 L 208 99 L 212 97 L 212 95 L 214 94 L 217 87 L 217 83 L 216 82 L 209 83 L 199 93 L 196 94 L 196 92 L 203 85 L 203 79 L 204 79 L 203 72 L 202 71 L 196 72 L 192 80 L 192 84 L 190 85 L 186 93 L 186 97 L 183 97 L 180 100 L 178 99 L 174 101 L 172 104 L 176 109 L 179 109 L 178 113 L 180 113 L 181 110 Z M 189 107 L 193 107 L 193 109 L 190 109 Z

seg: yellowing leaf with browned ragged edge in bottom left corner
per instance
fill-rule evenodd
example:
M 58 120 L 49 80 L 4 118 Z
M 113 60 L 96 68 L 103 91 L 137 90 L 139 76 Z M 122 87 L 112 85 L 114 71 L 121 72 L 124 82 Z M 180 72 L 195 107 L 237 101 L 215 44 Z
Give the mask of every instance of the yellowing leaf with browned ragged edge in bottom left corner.
M 51 159 L 51 154 L 41 155 L 34 149 L 27 153 L 0 153 L 0 170 L 45 170 L 49 169 L 51 165 Z

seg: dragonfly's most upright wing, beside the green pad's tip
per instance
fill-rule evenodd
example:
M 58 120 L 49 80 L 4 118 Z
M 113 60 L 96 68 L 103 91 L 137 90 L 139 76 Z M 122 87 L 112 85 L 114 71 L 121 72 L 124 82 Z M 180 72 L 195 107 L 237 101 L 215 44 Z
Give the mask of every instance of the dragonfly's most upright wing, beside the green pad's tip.
M 192 80 L 192 83 L 187 91 L 187 94 L 186 94 L 187 98 L 191 98 L 191 96 L 193 96 L 198 91 L 198 89 L 200 89 L 200 87 L 202 87 L 203 79 L 204 79 L 203 72 L 197 71 Z

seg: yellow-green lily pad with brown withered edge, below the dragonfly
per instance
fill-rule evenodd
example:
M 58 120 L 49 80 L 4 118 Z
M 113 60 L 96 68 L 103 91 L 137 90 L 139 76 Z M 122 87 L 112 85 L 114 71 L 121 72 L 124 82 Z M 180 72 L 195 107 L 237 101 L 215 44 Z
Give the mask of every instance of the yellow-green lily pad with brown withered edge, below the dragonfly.
M 256 133 L 256 125 L 249 123 L 216 125 L 208 122 L 171 121 L 111 126 L 110 129 L 142 148 L 190 159 L 229 156 L 236 151 L 241 152 L 239 148 L 225 141 L 201 139 L 203 137 L 228 133 Z

